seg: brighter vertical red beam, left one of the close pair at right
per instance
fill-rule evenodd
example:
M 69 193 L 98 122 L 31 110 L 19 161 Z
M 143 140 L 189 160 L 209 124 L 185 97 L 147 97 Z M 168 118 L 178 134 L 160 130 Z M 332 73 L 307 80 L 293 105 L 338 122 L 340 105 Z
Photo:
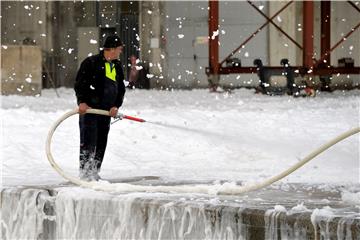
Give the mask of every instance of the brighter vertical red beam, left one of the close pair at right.
M 314 54 L 314 2 L 303 2 L 303 66 L 313 67 Z

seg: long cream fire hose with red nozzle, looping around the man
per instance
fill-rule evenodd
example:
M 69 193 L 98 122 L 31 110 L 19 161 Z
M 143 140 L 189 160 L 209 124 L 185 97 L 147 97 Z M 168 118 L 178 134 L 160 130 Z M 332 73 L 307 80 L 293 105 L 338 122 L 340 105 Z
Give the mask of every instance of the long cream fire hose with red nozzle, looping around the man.
M 335 145 L 336 143 L 354 135 L 360 132 L 360 127 L 356 127 L 353 129 L 350 129 L 339 136 L 335 137 L 334 139 L 330 140 L 329 142 L 325 143 L 324 145 L 320 146 L 319 148 L 315 149 L 313 152 L 311 152 L 309 155 L 307 155 L 305 158 L 303 158 L 298 163 L 291 166 L 289 169 L 283 171 L 282 173 L 273 176 L 263 182 L 255 183 L 251 185 L 245 185 L 245 186 L 238 186 L 233 184 L 222 184 L 217 186 L 212 185 L 177 185 L 177 186 L 143 186 L 143 185 L 134 185 L 134 184 L 128 184 L 128 183 L 116 183 L 116 184 L 109 184 L 109 183 L 102 183 L 102 182 L 87 182 L 80 180 L 79 178 L 67 175 L 60 166 L 55 162 L 54 157 L 51 153 L 51 141 L 52 137 L 55 133 L 56 128 L 67 118 L 69 118 L 72 115 L 78 114 L 78 109 L 74 109 L 72 111 L 69 111 L 62 115 L 58 120 L 55 121 L 55 123 L 51 126 L 47 139 L 46 139 L 46 156 L 47 159 L 50 162 L 50 165 L 55 169 L 55 171 L 60 174 L 63 178 L 66 180 L 87 188 L 92 188 L 95 190 L 102 190 L 102 191 L 108 191 L 108 192 L 177 192 L 177 193 L 205 193 L 205 194 L 219 194 L 219 195 L 236 195 L 236 194 L 242 194 L 245 192 L 255 191 L 259 190 L 261 188 L 267 187 L 280 179 L 288 176 L 289 174 L 293 173 L 295 170 L 299 169 L 303 165 L 305 165 L 307 162 L 318 156 L 320 153 L 324 152 L 331 146 Z M 86 114 L 98 114 L 98 115 L 105 115 L 109 116 L 109 112 L 105 110 L 99 110 L 99 109 L 88 109 L 86 111 Z M 116 120 L 121 119 L 128 119 L 131 121 L 146 122 L 144 119 L 136 118 L 128 115 L 124 115 L 122 113 L 118 113 L 118 115 L 115 117 Z

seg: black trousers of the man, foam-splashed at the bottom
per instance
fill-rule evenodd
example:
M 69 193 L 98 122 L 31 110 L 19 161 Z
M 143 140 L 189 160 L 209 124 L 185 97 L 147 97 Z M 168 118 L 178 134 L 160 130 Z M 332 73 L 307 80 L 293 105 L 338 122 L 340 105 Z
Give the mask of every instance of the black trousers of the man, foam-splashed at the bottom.
M 80 170 L 99 172 L 110 129 L 110 117 L 84 114 L 79 117 Z

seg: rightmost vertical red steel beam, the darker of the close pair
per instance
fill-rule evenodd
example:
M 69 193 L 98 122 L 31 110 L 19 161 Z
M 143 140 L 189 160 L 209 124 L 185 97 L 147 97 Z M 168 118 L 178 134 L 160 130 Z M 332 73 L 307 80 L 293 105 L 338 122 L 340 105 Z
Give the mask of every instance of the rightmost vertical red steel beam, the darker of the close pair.
M 331 2 L 321 1 L 321 56 L 324 56 L 326 65 L 330 65 L 330 39 L 331 39 L 331 26 L 330 26 Z M 329 52 L 327 54 L 327 52 Z

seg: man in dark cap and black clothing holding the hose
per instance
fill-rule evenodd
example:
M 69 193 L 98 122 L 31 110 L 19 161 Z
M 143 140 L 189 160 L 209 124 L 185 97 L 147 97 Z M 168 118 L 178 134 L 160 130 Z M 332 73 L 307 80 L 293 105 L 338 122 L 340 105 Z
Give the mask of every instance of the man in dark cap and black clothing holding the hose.
M 79 105 L 80 179 L 98 181 L 110 129 L 110 117 L 84 114 L 89 108 L 103 109 L 115 117 L 125 94 L 124 72 L 118 60 L 120 38 L 106 38 L 104 50 L 86 58 L 78 70 L 75 93 Z

